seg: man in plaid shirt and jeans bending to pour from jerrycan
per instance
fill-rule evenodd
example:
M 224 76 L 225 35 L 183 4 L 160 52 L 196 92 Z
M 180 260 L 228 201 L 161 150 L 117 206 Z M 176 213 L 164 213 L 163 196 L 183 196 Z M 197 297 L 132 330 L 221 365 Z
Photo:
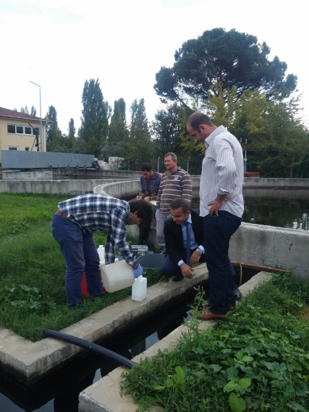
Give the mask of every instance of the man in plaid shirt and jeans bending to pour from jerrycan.
M 105 264 L 115 261 L 115 247 L 133 267 L 135 277 L 143 270 L 126 242 L 126 225 L 150 225 L 152 207 L 146 201 L 129 203 L 103 194 L 82 194 L 58 204 L 52 219 L 52 235 L 60 245 L 67 271 L 65 288 L 68 306 L 82 306 L 82 271 L 89 297 L 104 297 L 101 286 L 100 258 L 93 231 L 107 231 Z

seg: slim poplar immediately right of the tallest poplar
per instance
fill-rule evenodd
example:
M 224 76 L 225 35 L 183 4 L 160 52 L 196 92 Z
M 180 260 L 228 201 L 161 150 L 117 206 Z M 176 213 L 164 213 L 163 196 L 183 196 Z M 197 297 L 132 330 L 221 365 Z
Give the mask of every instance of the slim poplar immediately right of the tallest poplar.
M 128 139 L 128 127 L 126 126 L 126 102 L 123 98 L 115 100 L 111 124 L 109 126 L 108 140 L 111 142 Z

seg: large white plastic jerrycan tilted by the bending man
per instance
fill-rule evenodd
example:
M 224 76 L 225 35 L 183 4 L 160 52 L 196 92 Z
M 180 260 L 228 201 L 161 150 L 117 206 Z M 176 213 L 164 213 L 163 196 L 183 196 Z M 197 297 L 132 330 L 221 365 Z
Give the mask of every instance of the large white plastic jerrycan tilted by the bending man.
M 105 290 L 112 293 L 134 284 L 133 268 L 125 260 L 101 266 L 101 277 Z

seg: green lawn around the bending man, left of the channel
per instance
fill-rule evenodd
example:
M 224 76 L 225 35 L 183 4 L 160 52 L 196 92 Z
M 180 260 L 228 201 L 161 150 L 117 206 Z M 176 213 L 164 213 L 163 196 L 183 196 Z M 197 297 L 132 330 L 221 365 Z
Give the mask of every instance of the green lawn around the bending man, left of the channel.
M 131 293 L 126 288 L 104 299 L 84 299 L 78 310 L 66 306 L 65 261 L 50 231 L 53 213 L 66 198 L 0 194 L 0 325 L 31 341 L 43 338 L 41 328 L 61 330 Z M 105 244 L 105 233 L 94 237 L 97 246 Z M 129 236 L 127 240 L 136 243 Z M 148 286 L 161 277 L 152 271 L 146 276 Z

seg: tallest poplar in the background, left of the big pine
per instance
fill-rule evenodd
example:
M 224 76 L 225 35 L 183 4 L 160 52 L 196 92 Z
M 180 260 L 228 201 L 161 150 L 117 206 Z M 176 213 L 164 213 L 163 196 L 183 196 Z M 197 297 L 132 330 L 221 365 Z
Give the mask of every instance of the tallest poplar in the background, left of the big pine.
M 82 91 L 82 126 L 79 136 L 91 144 L 89 150 L 95 148 L 98 152 L 102 141 L 106 140 L 108 133 L 108 117 L 111 115 L 111 107 L 104 102 L 99 80 L 90 79 L 84 82 Z M 87 152 L 89 152 L 87 149 Z

